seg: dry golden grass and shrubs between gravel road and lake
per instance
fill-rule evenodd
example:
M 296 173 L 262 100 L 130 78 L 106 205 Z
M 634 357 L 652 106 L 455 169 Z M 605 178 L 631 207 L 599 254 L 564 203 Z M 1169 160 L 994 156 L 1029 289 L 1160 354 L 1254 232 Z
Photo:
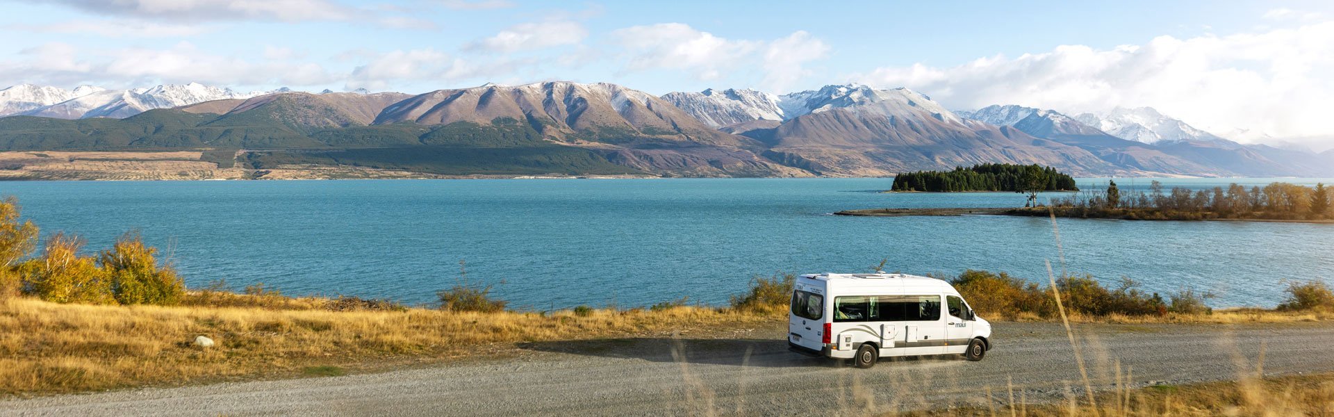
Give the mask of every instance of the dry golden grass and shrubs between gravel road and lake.
M 219 282 L 187 290 L 169 265 L 127 234 L 97 257 L 76 237 L 48 238 L 19 207 L 0 203 L 0 396 L 35 396 L 144 385 L 328 376 L 496 354 L 516 343 L 690 333 L 735 337 L 736 329 L 782 326 L 795 277 L 756 277 L 727 306 L 676 299 L 648 307 L 512 311 L 490 287 L 459 283 L 439 307 L 356 297 L 287 297 Z M 33 255 L 33 253 L 37 253 Z M 982 315 L 1051 321 L 1057 291 L 1007 274 L 966 271 L 950 281 Z M 1321 282 L 1293 283 L 1278 309 L 1214 311 L 1207 294 L 1162 297 L 1125 281 L 1055 282 L 1075 322 L 1293 322 L 1334 318 Z M 209 342 L 196 342 L 205 337 Z

